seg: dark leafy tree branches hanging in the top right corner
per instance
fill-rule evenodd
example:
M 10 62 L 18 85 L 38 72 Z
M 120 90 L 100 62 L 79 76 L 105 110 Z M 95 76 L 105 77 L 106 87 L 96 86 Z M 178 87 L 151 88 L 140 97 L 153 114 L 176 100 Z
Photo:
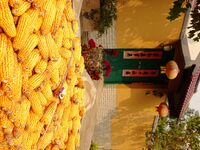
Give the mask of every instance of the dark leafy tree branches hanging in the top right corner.
M 174 0 L 173 7 L 170 9 L 168 20 L 173 21 L 186 13 L 187 9 L 191 7 L 189 0 Z M 191 12 L 191 25 L 188 27 L 189 38 L 199 42 L 200 40 L 200 0 L 196 0 L 196 6 Z

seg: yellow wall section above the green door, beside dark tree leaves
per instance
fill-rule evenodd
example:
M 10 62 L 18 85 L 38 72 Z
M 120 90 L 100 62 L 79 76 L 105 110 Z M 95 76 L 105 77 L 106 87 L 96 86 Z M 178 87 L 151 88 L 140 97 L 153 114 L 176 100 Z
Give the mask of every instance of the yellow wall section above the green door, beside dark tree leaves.
M 118 48 L 155 48 L 179 39 L 183 17 L 166 19 L 172 0 L 120 0 L 116 21 Z

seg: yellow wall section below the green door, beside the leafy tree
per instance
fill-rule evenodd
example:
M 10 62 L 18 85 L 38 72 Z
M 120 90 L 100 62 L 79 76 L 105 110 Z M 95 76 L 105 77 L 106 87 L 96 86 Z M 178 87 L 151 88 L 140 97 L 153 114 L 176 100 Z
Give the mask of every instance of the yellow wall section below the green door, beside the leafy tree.
M 145 95 L 152 89 L 117 86 L 116 113 L 112 119 L 112 150 L 141 150 L 145 147 L 145 131 L 151 129 L 156 106 L 165 100 Z

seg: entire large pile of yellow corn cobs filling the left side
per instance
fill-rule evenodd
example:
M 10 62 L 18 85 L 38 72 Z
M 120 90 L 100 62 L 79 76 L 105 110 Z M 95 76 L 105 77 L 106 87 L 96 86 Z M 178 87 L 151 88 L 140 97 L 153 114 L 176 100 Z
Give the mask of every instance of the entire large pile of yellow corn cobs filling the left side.
M 77 30 L 71 0 L 0 0 L 0 150 L 79 145 Z

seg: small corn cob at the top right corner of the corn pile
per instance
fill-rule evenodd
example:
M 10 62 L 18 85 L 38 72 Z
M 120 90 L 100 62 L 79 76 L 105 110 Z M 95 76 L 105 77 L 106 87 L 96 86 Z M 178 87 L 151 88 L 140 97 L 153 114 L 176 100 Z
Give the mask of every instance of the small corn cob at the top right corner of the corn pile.
M 72 3 L 71 2 L 67 3 L 66 8 L 64 10 L 64 13 L 65 13 L 65 16 L 66 16 L 68 21 L 76 20 L 76 15 L 75 15 L 75 12 L 74 12 L 74 10 L 72 8 Z

